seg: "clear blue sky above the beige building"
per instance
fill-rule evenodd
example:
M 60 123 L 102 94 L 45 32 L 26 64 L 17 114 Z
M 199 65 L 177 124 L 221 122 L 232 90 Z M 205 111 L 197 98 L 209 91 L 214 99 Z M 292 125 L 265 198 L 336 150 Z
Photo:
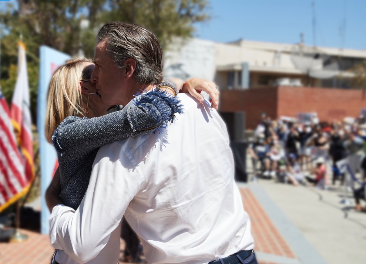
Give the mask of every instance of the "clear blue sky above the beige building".
M 315 0 L 317 46 L 366 50 L 366 0 Z M 211 0 L 212 19 L 197 24 L 195 36 L 217 42 L 239 38 L 313 45 L 312 0 Z M 346 7 L 346 8 L 345 8 Z

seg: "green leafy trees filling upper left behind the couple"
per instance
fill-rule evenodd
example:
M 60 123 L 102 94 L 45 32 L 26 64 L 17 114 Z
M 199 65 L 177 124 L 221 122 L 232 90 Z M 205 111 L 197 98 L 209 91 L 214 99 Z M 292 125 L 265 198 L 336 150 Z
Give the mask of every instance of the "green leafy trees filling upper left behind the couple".
M 16 81 L 22 36 L 27 46 L 31 113 L 36 120 L 39 47 L 46 45 L 71 55 L 93 57 L 99 28 L 111 21 L 135 23 L 152 30 L 163 49 L 174 37 L 191 37 L 194 24 L 209 19 L 206 0 L 18 0 L 0 11 L 1 88 L 8 102 Z

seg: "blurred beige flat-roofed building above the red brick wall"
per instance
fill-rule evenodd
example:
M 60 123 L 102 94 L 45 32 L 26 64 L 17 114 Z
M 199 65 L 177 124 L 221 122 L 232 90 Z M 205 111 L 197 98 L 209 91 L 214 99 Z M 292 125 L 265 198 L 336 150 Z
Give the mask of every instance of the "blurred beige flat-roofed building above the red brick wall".
M 168 76 L 202 77 L 220 89 L 268 86 L 350 88 L 349 70 L 366 59 L 366 50 L 311 47 L 239 40 L 217 43 L 202 39 L 175 42 L 165 54 Z M 168 59 L 167 59 L 168 58 Z M 178 67 L 178 68 L 177 68 Z

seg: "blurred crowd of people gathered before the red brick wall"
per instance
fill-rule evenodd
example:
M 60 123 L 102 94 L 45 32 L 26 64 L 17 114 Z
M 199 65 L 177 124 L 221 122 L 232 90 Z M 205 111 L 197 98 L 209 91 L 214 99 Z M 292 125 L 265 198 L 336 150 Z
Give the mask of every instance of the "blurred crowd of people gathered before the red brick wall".
M 360 199 L 365 199 L 365 153 L 363 115 L 328 123 L 318 122 L 316 117 L 272 120 L 263 114 L 249 146 L 255 177 L 277 177 L 293 185 L 307 181 L 321 189 L 339 181 L 354 192 L 356 209 L 366 211 L 360 205 Z

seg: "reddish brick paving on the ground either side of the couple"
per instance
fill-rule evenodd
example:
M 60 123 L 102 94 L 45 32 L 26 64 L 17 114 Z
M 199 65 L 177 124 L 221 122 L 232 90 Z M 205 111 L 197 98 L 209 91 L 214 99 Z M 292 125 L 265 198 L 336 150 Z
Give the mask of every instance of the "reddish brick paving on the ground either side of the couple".
M 258 263 L 299 264 L 295 254 L 249 188 L 241 188 L 240 193 L 244 208 L 251 219 Z M 48 235 L 29 230 L 21 232 L 28 236 L 28 240 L 22 243 L 0 243 L 0 264 L 49 264 L 54 249 L 49 244 Z M 122 240 L 121 249 L 124 249 Z

